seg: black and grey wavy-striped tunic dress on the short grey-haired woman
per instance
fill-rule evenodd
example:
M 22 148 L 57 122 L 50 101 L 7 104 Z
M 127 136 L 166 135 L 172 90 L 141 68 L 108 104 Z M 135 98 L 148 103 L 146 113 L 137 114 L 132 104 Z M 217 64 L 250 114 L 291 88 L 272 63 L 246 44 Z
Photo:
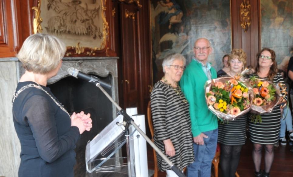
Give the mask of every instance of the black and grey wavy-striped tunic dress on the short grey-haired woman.
M 158 81 L 150 96 L 155 145 L 166 155 L 163 140 L 171 139 L 175 156 L 167 156 L 180 170 L 194 161 L 193 139 L 189 117 L 189 104 L 184 103 L 183 93 L 178 88 Z M 171 169 L 158 154 L 158 168 Z

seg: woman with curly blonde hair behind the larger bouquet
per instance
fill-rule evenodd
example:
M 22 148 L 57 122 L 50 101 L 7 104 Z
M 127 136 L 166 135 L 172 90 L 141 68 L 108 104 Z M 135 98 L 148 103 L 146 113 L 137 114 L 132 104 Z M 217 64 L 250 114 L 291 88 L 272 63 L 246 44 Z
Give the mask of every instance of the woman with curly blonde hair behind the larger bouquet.
M 246 65 L 246 53 L 242 49 L 233 49 L 228 56 L 230 70 L 225 75 L 236 76 L 240 74 Z M 234 177 L 240 159 L 242 146 L 246 141 L 246 123 L 247 115 L 240 116 L 236 120 L 229 122 L 219 121 L 218 142 L 221 145 L 220 166 L 222 175 L 225 177 Z

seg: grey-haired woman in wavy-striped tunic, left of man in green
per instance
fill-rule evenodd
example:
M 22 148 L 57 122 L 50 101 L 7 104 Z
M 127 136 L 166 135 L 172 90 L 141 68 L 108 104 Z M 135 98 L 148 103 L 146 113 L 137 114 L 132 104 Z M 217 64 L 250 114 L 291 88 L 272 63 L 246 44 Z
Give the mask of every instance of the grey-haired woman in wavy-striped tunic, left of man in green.
M 154 85 L 150 96 L 154 143 L 180 170 L 194 161 L 189 104 L 177 84 L 185 64 L 181 54 L 168 55 L 162 64 L 165 76 Z M 167 177 L 177 177 L 158 154 L 157 161 Z

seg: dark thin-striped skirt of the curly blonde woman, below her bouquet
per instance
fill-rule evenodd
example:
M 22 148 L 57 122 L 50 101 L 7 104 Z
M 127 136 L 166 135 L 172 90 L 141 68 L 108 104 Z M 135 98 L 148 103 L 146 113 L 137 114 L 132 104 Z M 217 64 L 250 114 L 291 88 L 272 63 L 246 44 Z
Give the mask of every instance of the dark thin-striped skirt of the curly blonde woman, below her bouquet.
M 244 145 L 246 141 L 246 123 L 247 114 L 236 120 L 224 123 L 219 120 L 218 142 L 230 146 Z

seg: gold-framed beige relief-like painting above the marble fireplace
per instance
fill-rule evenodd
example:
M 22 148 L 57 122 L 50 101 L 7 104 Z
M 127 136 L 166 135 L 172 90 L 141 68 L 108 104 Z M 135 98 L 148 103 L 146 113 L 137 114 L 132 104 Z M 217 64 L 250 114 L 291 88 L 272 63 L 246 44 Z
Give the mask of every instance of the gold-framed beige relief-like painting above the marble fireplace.
M 105 48 L 108 24 L 103 9 L 105 0 L 38 0 L 34 33 L 53 34 L 80 54 Z M 83 47 L 81 47 L 83 46 Z M 89 49 L 89 50 L 88 50 Z M 68 53 L 67 53 L 68 54 Z

